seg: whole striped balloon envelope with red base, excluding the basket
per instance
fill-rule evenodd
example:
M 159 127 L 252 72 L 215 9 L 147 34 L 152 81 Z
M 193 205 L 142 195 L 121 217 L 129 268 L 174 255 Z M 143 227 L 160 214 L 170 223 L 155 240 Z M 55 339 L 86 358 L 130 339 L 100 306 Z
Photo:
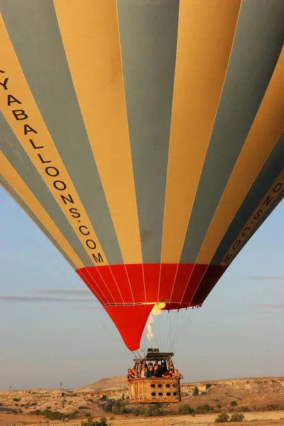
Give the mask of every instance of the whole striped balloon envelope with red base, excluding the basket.
M 283 199 L 283 0 L 1 0 L 0 182 L 139 348 Z

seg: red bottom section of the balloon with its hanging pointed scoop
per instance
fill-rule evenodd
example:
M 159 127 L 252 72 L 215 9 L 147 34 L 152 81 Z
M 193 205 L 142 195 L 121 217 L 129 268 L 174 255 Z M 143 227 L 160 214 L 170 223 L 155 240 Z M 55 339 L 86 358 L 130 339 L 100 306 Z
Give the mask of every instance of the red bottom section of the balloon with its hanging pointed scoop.
M 92 266 L 77 273 L 104 305 L 124 343 L 133 351 L 140 346 L 155 303 L 168 300 L 166 310 L 202 305 L 225 270 L 224 266 L 214 265 L 153 263 Z

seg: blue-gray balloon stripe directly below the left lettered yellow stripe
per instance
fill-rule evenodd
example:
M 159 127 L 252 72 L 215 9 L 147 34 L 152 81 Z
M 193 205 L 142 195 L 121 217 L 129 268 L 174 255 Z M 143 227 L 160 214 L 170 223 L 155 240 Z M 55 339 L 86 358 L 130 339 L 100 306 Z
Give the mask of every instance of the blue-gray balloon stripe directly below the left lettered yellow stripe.
M 65 239 L 75 253 L 77 253 L 78 258 L 80 258 L 84 266 L 92 266 L 93 263 L 87 251 L 84 249 L 84 246 L 82 246 L 80 239 L 1 112 L 0 150 L 43 209 L 45 209 L 50 219 L 52 219 L 54 224 L 60 229 L 62 235 L 65 236 Z M 36 215 L 36 212 L 34 213 Z

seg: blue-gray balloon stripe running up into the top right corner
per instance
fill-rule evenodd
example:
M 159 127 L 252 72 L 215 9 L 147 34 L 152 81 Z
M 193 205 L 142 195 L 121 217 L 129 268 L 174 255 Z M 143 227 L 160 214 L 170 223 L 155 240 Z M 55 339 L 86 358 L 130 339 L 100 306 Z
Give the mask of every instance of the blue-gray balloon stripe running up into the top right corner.
M 187 227 L 181 263 L 195 263 L 283 46 L 283 0 L 243 0 L 226 80 Z

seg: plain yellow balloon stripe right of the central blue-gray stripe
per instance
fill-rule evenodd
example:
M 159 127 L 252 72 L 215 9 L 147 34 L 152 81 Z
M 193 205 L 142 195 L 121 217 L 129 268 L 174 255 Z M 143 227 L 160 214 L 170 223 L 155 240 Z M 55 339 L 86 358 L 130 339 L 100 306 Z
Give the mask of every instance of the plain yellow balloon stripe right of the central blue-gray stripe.
M 229 64 L 241 0 L 181 0 L 162 262 L 178 263 Z

